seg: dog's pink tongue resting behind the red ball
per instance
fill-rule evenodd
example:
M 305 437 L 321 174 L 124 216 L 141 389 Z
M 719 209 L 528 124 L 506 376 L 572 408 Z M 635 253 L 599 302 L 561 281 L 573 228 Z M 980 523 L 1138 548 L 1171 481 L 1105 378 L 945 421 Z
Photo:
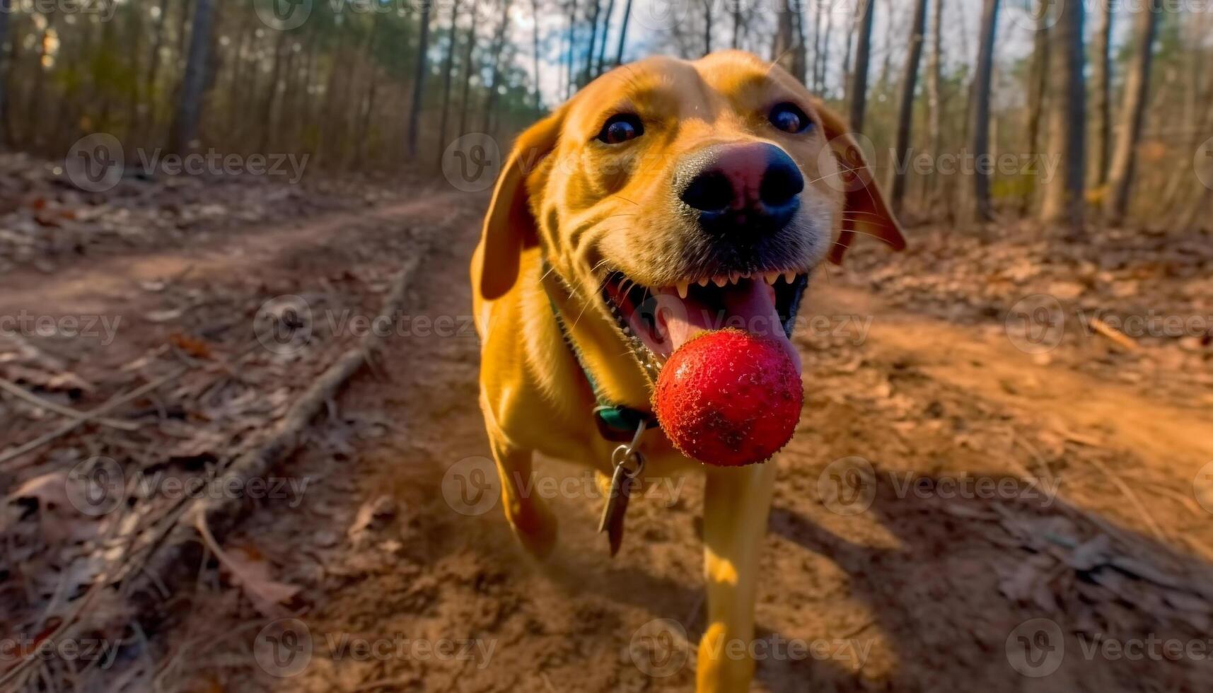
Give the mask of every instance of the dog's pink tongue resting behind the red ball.
M 657 311 L 657 323 L 662 328 L 662 339 L 650 347 L 656 347 L 654 351 L 668 357 L 701 331 L 739 328 L 775 341 L 792 359 L 796 370 L 801 370 L 801 354 L 784 334 L 771 285 L 761 279 L 740 279 L 735 285 L 728 285 L 722 294 L 723 306 L 708 306 L 697 301 L 694 294 L 679 299 L 672 289 L 661 290 L 660 303 L 666 309 Z

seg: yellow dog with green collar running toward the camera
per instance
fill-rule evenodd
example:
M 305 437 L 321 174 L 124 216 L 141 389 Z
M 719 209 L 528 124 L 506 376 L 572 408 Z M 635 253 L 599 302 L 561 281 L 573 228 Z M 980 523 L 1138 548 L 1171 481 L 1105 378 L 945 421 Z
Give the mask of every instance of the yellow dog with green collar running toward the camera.
M 654 377 L 711 326 L 693 314 L 713 311 L 744 324 L 778 318 L 770 336 L 798 365 L 790 339 L 808 277 L 841 262 L 855 234 L 905 246 L 842 119 L 740 51 L 615 68 L 524 131 L 502 164 L 471 276 L 506 518 L 534 556 L 552 549 L 556 517 L 525 490 L 535 451 L 588 465 L 604 485 L 620 441 L 634 439 L 645 476 L 701 470 L 700 692 L 747 691 L 753 676 L 753 660 L 722 644 L 753 637 L 775 464 L 680 455 L 640 425 L 651 424 Z M 682 313 L 661 316 L 662 305 Z

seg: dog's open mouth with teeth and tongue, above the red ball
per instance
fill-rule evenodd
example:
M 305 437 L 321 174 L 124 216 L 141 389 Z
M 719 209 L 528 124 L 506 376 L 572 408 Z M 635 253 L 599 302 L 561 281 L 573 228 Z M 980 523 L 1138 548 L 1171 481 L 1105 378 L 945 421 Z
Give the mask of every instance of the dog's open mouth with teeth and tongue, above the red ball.
M 775 340 L 799 368 L 791 337 L 808 284 L 808 274 L 796 269 L 733 272 L 660 288 L 611 272 L 603 299 L 632 348 L 654 370 L 696 334 L 723 328 Z

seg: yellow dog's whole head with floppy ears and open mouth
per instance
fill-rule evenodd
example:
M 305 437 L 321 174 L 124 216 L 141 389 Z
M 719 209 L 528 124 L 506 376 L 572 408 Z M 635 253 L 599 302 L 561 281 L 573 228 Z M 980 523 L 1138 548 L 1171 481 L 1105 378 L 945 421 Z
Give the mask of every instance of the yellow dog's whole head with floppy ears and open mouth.
M 569 291 L 659 365 L 705 328 L 787 343 L 809 272 L 841 261 L 854 233 L 905 245 L 860 149 L 803 85 L 738 51 L 650 58 L 518 138 L 479 291 L 507 292 L 539 244 Z

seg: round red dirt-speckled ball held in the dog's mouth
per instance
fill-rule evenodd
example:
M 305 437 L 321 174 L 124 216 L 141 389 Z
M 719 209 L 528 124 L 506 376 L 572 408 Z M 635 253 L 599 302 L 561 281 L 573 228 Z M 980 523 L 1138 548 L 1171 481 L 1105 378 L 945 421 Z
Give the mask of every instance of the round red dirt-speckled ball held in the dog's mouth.
M 803 403 L 799 369 L 784 346 L 738 329 L 688 340 L 653 392 L 678 451 L 722 467 L 770 459 L 792 439 Z

